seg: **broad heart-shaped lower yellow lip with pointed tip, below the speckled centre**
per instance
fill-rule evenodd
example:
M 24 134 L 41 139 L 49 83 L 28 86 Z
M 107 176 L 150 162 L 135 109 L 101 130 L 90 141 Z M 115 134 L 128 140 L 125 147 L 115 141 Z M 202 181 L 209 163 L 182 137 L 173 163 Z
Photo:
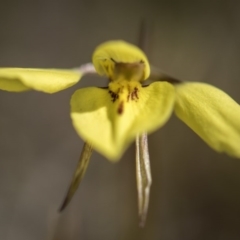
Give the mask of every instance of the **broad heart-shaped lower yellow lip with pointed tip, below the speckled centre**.
M 71 99 L 71 117 L 78 134 L 111 160 L 121 157 L 138 133 L 152 132 L 170 117 L 175 91 L 167 82 L 139 89 L 138 99 L 112 101 L 108 89 L 77 90 Z

